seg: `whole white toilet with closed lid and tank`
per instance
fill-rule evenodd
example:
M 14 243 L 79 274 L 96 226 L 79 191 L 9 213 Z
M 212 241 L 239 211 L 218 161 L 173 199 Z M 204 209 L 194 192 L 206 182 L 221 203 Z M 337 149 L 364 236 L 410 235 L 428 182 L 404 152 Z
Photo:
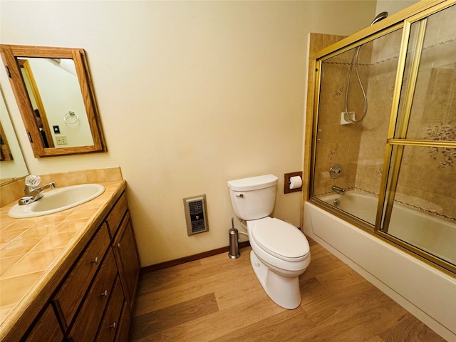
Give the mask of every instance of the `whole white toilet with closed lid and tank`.
M 301 304 L 299 275 L 311 261 L 309 242 L 294 225 L 269 217 L 276 200 L 277 177 L 228 182 L 234 213 L 247 224 L 250 263 L 266 294 L 285 309 Z

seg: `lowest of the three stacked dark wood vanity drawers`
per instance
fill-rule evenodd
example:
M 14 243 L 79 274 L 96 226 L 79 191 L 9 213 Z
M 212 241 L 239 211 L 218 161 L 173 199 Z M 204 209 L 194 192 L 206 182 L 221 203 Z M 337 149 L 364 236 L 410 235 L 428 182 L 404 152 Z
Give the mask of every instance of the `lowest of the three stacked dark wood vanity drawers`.
M 113 291 L 108 301 L 108 307 L 98 329 L 96 341 L 114 341 L 115 331 L 117 331 L 125 297 L 123 296 L 122 284 L 119 277 L 116 277 Z

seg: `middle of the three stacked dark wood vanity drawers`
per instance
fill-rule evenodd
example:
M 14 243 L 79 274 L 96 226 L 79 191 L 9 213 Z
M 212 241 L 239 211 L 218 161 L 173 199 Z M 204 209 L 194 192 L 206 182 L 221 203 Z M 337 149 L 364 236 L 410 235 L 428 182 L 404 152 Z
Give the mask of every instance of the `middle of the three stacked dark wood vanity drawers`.
M 86 300 L 74 321 L 68 338 L 73 342 L 94 341 L 108 298 L 117 276 L 113 252 L 109 250 L 95 281 L 88 291 Z

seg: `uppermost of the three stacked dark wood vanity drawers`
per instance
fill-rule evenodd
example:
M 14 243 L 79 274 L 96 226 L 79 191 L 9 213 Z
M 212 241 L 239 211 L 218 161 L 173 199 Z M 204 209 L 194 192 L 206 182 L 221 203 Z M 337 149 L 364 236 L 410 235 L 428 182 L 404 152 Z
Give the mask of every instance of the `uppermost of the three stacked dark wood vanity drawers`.
M 106 224 L 98 229 L 76 266 L 53 298 L 64 328 L 68 328 L 110 244 Z

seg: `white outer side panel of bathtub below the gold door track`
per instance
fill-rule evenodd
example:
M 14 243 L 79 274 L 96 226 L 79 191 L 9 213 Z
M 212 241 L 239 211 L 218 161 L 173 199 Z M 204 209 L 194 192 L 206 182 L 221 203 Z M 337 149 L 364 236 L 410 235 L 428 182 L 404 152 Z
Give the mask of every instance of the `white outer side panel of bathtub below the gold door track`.
M 304 204 L 304 233 L 447 341 L 456 341 L 454 276 L 311 202 Z

